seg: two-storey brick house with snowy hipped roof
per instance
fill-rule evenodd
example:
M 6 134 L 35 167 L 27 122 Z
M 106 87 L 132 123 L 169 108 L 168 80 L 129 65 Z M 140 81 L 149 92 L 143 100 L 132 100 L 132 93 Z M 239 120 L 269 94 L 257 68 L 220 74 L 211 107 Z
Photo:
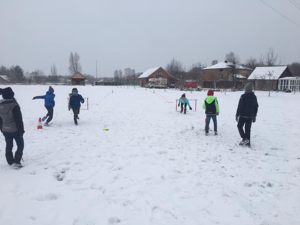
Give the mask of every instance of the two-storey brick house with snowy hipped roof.
M 242 86 L 252 69 L 230 62 L 221 62 L 202 69 L 203 88 L 211 88 L 211 83 L 216 83 L 217 87 Z M 233 75 L 232 75 L 233 74 Z M 241 88 L 241 87 L 240 87 Z

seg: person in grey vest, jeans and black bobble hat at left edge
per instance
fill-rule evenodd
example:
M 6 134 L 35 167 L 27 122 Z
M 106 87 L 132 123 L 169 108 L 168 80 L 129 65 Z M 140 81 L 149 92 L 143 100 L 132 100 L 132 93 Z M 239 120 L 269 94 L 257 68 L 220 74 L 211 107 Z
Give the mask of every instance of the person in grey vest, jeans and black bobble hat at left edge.
M 19 104 L 13 97 L 14 92 L 12 88 L 0 88 L 0 130 L 5 138 L 6 148 L 5 157 L 9 165 L 14 164 L 17 168 L 21 168 L 21 159 L 24 149 L 24 124 L 22 113 Z M 17 151 L 13 157 L 12 147 L 13 139 L 17 143 Z

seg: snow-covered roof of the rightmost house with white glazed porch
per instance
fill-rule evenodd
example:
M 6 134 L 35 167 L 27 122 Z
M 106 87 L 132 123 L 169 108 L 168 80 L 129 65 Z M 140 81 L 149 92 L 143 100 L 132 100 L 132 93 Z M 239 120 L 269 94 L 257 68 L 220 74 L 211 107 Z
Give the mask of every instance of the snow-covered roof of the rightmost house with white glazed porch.
M 283 71 L 287 68 L 287 66 L 283 67 L 257 67 L 250 76 L 247 78 L 248 80 L 261 79 L 262 76 L 267 76 L 267 74 L 272 73 L 272 79 L 278 79 Z

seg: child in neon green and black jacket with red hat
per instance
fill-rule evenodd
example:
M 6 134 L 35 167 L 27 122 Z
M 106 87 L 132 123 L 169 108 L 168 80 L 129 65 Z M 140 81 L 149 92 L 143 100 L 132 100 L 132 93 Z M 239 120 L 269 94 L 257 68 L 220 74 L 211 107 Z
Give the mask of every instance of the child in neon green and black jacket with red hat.
M 213 96 L 213 90 L 208 90 L 207 97 L 204 100 L 202 108 L 205 109 L 206 114 L 205 135 L 208 135 L 210 118 L 212 118 L 213 121 L 213 130 L 215 135 L 217 135 L 217 115 L 219 115 L 219 103 L 217 98 Z

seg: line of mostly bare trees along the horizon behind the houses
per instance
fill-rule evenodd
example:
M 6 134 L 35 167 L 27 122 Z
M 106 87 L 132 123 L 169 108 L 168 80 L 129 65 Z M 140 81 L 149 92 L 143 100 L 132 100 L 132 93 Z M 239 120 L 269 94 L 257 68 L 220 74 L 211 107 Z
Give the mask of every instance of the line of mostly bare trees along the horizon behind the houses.
M 282 65 L 281 58 L 275 52 L 273 47 L 268 48 L 265 54 L 261 54 L 261 56 L 257 58 L 250 57 L 244 63 L 241 62 L 239 55 L 230 51 L 225 55 L 225 60 L 231 62 L 236 65 L 241 65 L 247 68 L 254 70 L 256 67 L 262 66 L 280 66 Z M 211 65 L 217 64 L 217 60 L 212 60 Z M 293 62 L 291 64 L 287 64 L 293 76 L 297 76 L 300 74 L 300 63 Z M 192 63 L 188 71 L 185 71 L 183 68 L 183 63 L 176 58 L 171 59 L 171 61 L 166 65 L 166 71 L 178 78 L 179 80 L 202 80 L 202 69 L 206 67 L 206 64 L 201 62 Z M 11 66 L 10 68 L 6 68 L 5 66 L 0 67 L 0 75 L 5 75 L 9 78 L 10 81 L 14 82 L 27 82 L 27 83 L 67 83 L 70 76 L 73 74 L 80 72 L 82 73 L 82 66 L 80 63 L 80 56 L 77 52 L 71 52 L 69 55 L 69 75 L 58 75 L 58 70 L 53 63 L 50 67 L 50 74 L 46 75 L 43 70 L 36 69 L 32 72 L 25 72 L 19 66 Z M 104 80 L 109 82 L 117 82 L 124 84 L 132 84 L 135 85 L 138 83 L 138 77 L 142 73 L 136 73 L 135 69 L 125 68 L 124 71 L 121 69 L 117 69 L 113 72 L 113 78 L 111 77 L 99 77 L 97 81 Z M 234 74 L 234 71 L 232 72 Z M 88 83 L 94 83 L 96 78 L 90 74 L 83 74 Z M 113 79 L 113 80 L 112 80 Z

